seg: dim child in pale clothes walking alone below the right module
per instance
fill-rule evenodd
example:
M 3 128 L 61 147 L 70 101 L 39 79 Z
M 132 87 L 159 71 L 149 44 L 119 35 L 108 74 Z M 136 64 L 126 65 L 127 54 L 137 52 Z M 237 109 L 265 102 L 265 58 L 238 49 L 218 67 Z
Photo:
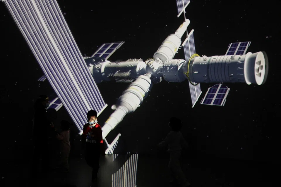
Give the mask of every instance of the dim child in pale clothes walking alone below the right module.
M 170 183 L 177 183 L 181 186 L 190 186 L 190 183 L 186 180 L 184 172 L 181 169 L 180 157 L 182 148 L 187 148 L 188 144 L 184 140 L 180 129 L 182 127 L 181 120 L 176 117 L 171 117 L 169 127 L 172 131 L 166 136 L 165 140 L 160 142 L 160 147 L 168 146 L 168 152 L 170 153 L 169 169 L 172 176 Z

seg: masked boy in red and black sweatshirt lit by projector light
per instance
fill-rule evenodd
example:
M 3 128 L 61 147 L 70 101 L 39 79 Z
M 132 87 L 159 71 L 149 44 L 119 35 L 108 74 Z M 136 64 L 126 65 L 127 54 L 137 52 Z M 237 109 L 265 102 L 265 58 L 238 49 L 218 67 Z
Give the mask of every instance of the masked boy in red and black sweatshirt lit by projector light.
M 82 148 L 85 150 L 85 160 L 92 167 L 92 181 L 97 181 L 97 173 L 100 168 L 100 155 L 105 155 L 103 145 L 102 128 L 97 124 L 97 112 L 90 110 L 87 113 L 88 123 L 83 127 Z

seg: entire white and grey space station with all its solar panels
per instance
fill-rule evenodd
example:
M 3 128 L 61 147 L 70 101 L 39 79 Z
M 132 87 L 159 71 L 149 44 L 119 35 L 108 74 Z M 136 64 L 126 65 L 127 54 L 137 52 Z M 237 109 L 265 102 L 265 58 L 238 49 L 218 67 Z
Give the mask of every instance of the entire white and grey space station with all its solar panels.
M 251 42 L 231 43 L 222 56 L 196 54 L 194 32 L 187 32 L 190 21 L 185 17 L 189 0 L 177 0 L 177 17 L 183 13 L 184 22 L 162 42 L 153 58 L 124 62 L 108 60 L 124 42 L 103 44 L 92 57 L 83 57 L 56 0 L 2 1 L 45 74 L 39 81 L 47 78 L 56 93 L 50 108 L 59 110 L 64 105 L 81 133 L 83 125 L 87 123 L 88 110 L 96 110 L 100 115 L 107 107 L 96 85 L 102 81 L 131 83 L 116 105 L 112 106 L 114 112 L 102 127 L 105 139 L 126 114 L 134 112 L 141 105 L 153 84 L 163 79 L 167 82 L 188 79 L 192 107 L 202 93 L 200 83 L 217 83 L 208 89 L 201 104 L 223 106 L 229 88 L 222 83 L 261 85 L 268 75 L 266 53 L 246 53 Z M 187 37 L 181 42 L 185 33 Z M 181 47 L 185 59 L 173 59 Z M 110 145 L 105 139 L 107 153 L 113 153 L 120 135 Z

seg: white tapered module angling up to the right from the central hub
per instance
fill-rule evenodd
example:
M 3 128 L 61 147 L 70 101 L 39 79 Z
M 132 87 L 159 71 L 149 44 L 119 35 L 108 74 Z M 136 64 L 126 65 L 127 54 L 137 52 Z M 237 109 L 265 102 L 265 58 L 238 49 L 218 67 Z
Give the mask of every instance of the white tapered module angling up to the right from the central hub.
M 181 45 L 181 37 L 186 32 L 186 28 L 190 21 L 186 19 L 183 24 L 178 28 L 175 34 L 170 34 L 154 53 L 153 58 L 159 58 L 164 63 L 166 60 L 171 60 L 177 53 L 179 46 Z

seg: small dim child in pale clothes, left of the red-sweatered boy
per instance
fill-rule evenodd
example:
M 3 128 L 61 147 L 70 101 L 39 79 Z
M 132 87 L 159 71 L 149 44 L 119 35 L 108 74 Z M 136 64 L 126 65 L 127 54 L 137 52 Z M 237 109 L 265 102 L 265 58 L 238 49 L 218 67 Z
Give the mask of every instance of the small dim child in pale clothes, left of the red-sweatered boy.
M 68 165 L 68 156 L 70 152 L 70 141 L 69 141 L 69 134 L 70 134 L 70 123 L 66 120 L 61 121 L 61 133 L 57 134 L 57 138 L 61 141 L 61 163 L 59 167 L 61 167 L 61 172 L 69 172 L 69 165 Z

